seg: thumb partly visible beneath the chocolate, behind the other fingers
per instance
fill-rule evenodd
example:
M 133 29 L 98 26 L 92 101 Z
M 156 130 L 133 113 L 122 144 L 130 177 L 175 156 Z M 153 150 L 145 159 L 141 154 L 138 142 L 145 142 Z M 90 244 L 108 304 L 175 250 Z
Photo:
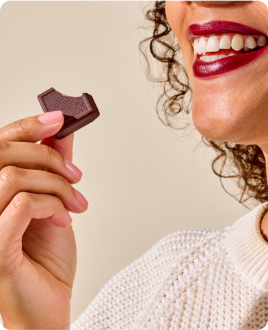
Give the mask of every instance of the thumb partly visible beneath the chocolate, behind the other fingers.
M 50 136 L 49 138 L 44 138 L 41 140 L 40 144 L 45 144 L 48 147 L 55 149 L 58 153 L 64 157 L 64 159 L 72 162 L 72 147 L 74 143 L 75 134 L 70 134 L 61 140 L 57 140 L 55 136 Z

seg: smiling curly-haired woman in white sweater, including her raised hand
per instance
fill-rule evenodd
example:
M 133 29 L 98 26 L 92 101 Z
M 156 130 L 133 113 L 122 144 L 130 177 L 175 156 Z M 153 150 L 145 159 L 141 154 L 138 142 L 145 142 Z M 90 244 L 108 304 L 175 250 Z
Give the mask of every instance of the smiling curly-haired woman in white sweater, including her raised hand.
M 218 152 L 215 172 L 227 176 L 225 164 L 232 161 L 229 176 L 238 179 L 241 202 L 251 197 L 262 204 L 223 230 L 192 229 L 163 238 L 113 277 L 70 326 L 77 255 L 66 210 L 81 213 L 88 207 L 71 186 L 81 179 L 71 163 L 73 136 L 55 139 L 64 122 L 61 112 L 5 126 L 0 129 L 0 312 L 6 329 L 267 325 L 268 8 L 258 0 L 156 0 L 147 18 L 155 24 L 150 51 L 165 68 L 163 120 L 172 125 L 188 112 L 189 77 L 193 122 Z

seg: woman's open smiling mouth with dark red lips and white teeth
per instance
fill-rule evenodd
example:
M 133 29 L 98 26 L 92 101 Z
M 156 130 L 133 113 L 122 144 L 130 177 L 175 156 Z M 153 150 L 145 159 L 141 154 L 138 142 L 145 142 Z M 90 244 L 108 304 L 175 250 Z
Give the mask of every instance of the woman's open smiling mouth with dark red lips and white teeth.
M 226 21 L 190 25 L 187 36 L 196 60 L 193 75 L 207 78 L 235 70 L 256 60 L 267 50 L 263 32 Z

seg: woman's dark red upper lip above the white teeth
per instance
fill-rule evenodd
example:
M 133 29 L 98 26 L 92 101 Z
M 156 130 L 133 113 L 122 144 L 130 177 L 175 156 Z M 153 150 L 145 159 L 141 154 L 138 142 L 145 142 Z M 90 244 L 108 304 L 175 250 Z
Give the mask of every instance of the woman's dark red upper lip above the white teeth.
M 212 36 L 213 34 L 224 34 L 224 33 L 235 33 L 235 34 L 249 34 L 265 36 L 267 35 L 254 27 L 247 25 L 229 22 L 229 21 L 209 21 L 202 24 L 191 24 L 187 28 L 187 37 L 191 42 L 195 38 L 200 36 Z

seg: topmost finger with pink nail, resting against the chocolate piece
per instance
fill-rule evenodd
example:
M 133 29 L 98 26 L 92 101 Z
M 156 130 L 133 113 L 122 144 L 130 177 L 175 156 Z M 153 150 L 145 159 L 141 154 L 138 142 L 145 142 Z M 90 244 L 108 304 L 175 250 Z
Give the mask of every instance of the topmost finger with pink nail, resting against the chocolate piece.
M 35 143 L 57 134 L 62 125 L 64 125 L 64 116 L 61 111 L 38 114 L 2 127 L 0 141 Z

